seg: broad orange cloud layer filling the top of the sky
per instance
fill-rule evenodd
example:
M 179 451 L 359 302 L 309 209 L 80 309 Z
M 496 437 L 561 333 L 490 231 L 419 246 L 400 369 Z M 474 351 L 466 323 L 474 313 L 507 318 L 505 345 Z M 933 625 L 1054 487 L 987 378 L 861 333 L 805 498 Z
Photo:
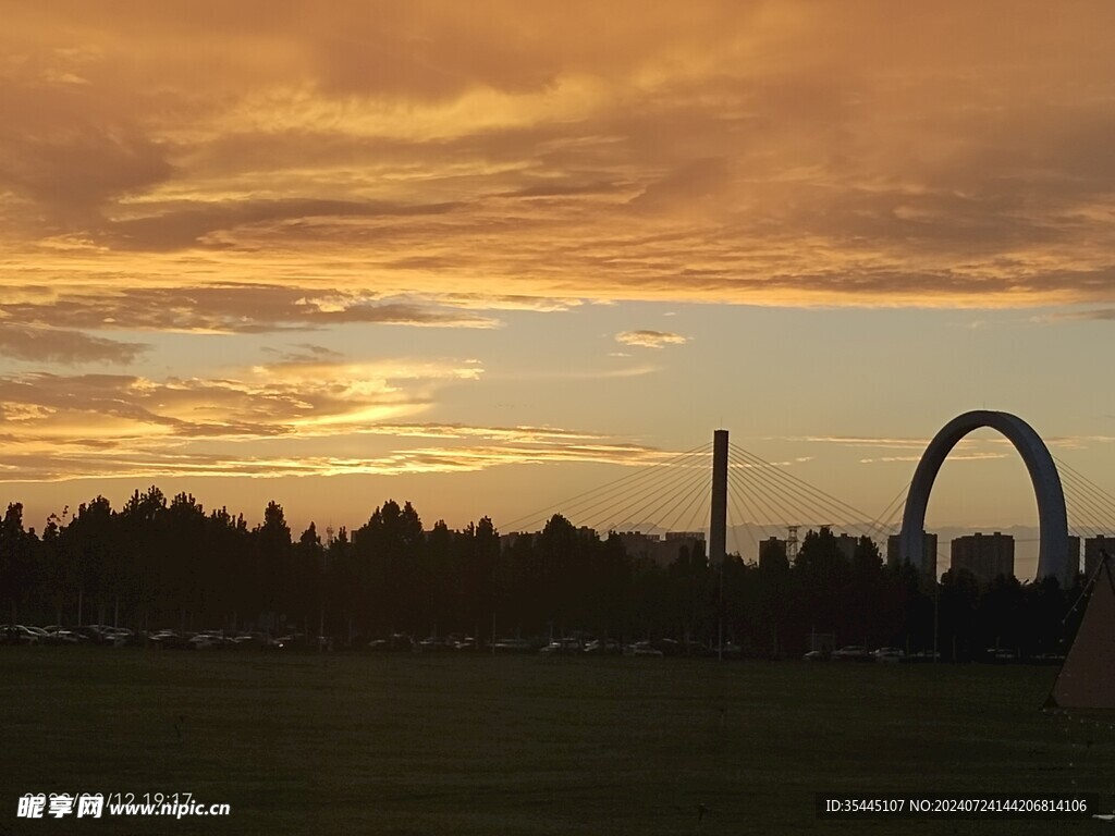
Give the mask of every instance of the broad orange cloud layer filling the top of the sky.
M 1107 3 L 486 6 L 10 8 L 0 281 L 1115 300 Z

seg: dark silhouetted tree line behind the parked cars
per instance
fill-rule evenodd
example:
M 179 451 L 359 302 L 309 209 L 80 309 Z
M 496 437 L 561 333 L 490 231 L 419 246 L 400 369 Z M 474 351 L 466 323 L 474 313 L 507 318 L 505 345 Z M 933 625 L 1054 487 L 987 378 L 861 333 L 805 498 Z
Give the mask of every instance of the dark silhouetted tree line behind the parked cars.
M 765 657 L 799 654 L 811 634 L 830 633 L 838 644 L 935 647 L 944 659 L 988 648 L 1037 655 L 1064 649 L 1078 586 L 980 583 L 963 571 L 927 586 L 910 566 L 885 566 L 869 537 L 846 555 L 827 528 L 808 532 L 793 561 L 774 548 L 760 564 L 730 555 L 721 571 L 698 543 L 660 566 L 561 515 L 502 543 L 487 517 L 427 531 L 410 503 L 391 499 L 324 539 L 313 523 L 295 538 L 274 502 L 249 527 L 154 486 L 119 509 L 98 496 L 72 516 L 52 514 L 41 533 L 25 526 L 19 503 L 0 524 L 0 606 L 12 623 L 323 629 L 341 644 L 396 632 L 581 632 L 724 641 Z

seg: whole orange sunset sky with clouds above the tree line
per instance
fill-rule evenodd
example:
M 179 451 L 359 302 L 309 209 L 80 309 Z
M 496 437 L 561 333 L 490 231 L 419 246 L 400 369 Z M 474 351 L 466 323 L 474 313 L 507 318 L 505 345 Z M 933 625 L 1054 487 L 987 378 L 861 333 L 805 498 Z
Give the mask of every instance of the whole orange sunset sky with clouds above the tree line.
M 1115 493 L 1111 3 L 0 12 L 30 525 L 152 484 L 500 525 L 716 428 L 874 518 L 980 408 Z M 966 439 L 930 524 L 1034 521 Z

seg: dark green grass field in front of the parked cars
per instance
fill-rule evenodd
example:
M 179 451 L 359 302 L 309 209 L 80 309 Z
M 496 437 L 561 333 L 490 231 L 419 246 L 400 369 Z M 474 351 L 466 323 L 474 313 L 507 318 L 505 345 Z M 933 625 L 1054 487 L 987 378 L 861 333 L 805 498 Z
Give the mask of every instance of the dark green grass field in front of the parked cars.
M 1115 833 L 815 816 L 820 790 L 1115 804 L 1115 719 L 1041 712 L 1054 674 L 2 648 L 0 834 Z M 190 791 L 232 815 L 16 818 L 55 791 Z

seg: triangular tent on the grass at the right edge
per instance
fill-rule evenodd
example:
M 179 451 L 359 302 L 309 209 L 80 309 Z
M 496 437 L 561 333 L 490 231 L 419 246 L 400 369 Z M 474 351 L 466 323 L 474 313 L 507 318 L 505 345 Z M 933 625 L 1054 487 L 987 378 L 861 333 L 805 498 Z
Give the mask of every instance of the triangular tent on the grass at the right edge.
M 1085 585 L 1080 626 L 1065 664 L 1053 683 L 1046 707 L 1115 708 L 1115 576 L 1104 553 Z

